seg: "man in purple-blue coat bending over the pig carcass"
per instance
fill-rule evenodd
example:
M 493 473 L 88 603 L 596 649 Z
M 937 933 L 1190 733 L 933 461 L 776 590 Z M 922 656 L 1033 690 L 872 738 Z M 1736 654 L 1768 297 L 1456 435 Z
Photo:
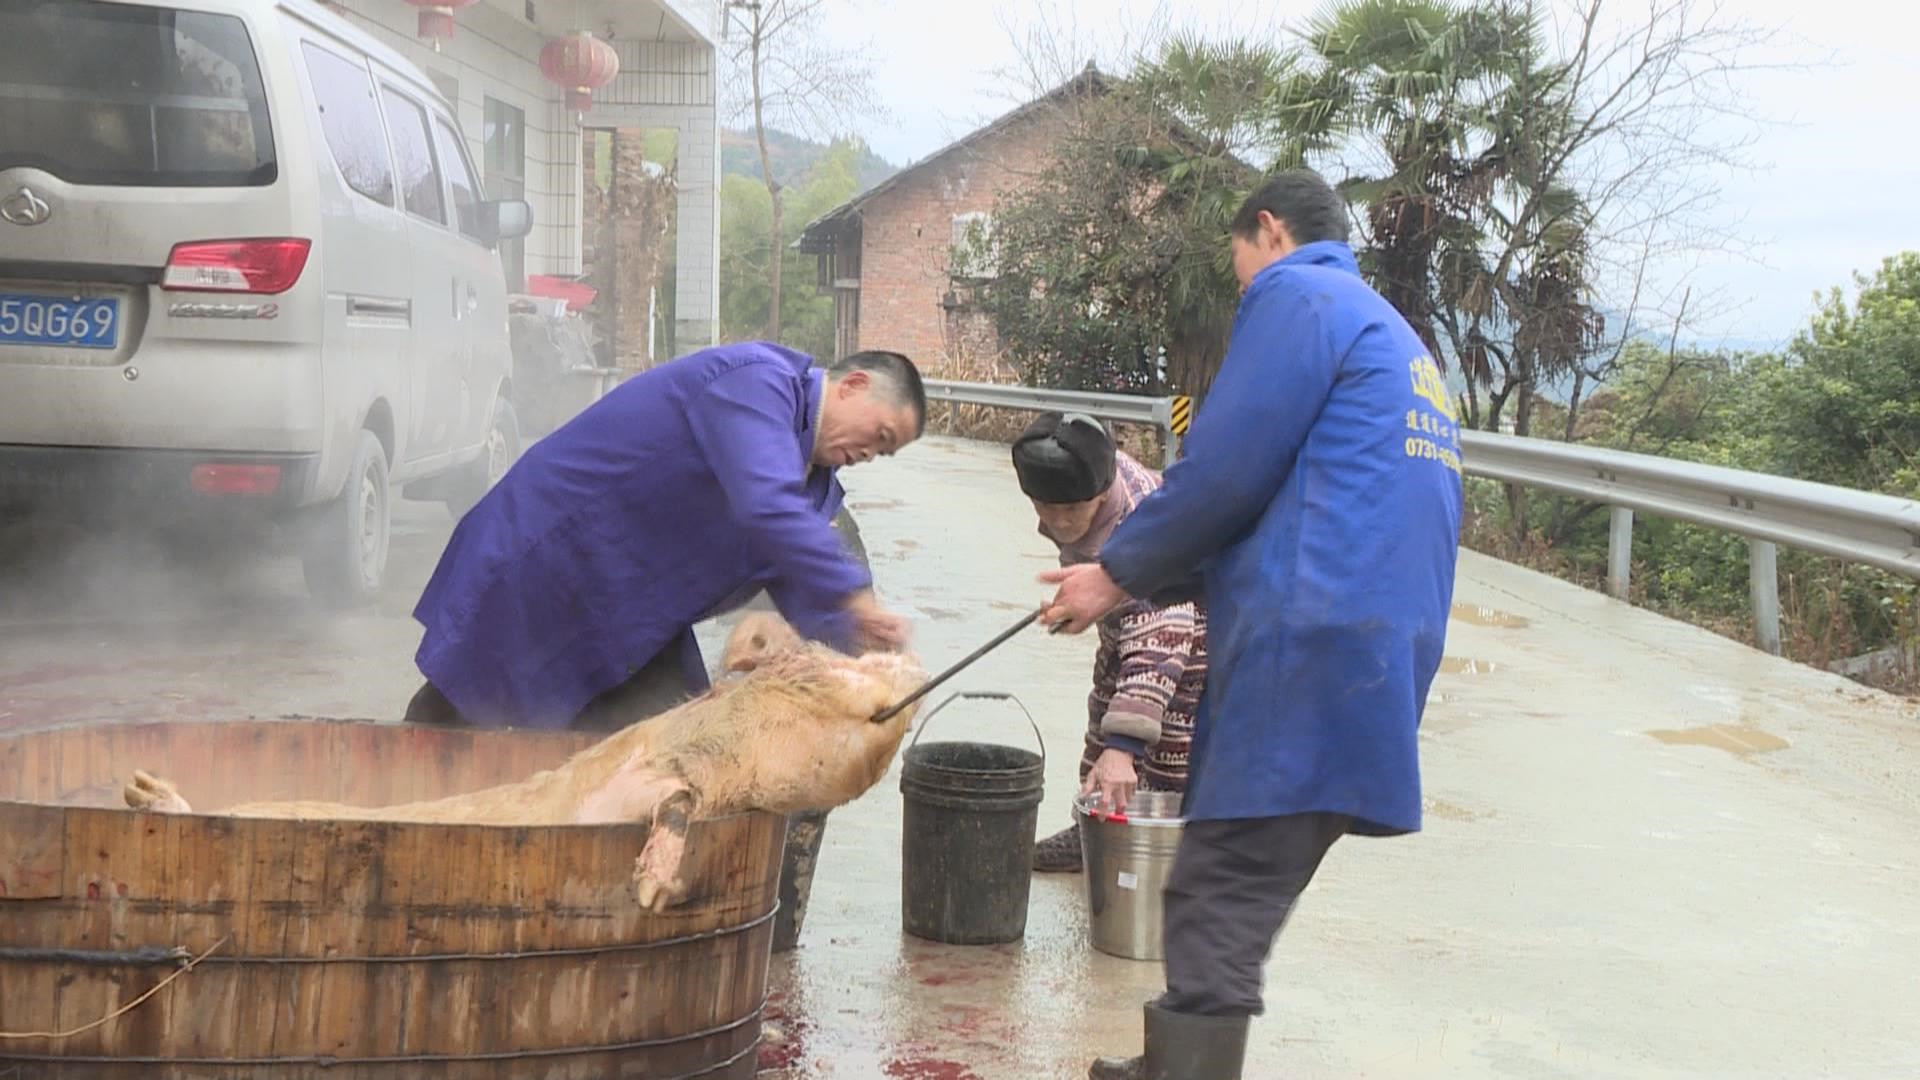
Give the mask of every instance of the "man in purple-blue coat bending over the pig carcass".
M 707 688 L 693 625 L 762 588 L 803 636 L 897 648 L 831 519 L 837 471 L 912 442 L 910 359 L 831 367 L 768 342 L 643 371 L 545 438 L 461 519 L 413 617 L 407 719 L 612 730 Z

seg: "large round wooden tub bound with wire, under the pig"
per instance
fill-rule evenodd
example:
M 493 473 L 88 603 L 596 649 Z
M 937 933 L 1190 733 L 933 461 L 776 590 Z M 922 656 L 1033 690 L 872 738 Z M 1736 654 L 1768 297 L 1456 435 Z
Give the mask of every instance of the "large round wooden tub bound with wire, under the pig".
M 351 721 L 0 734 L 0 1076 L 751 1078 L 785 821 L 687 836 L 689 897 L 632 892 L 641 826 L 154 815 L 386 805 L 516 780 L 595 736 Z M 217 945 L 217 947 L 215 947 Z

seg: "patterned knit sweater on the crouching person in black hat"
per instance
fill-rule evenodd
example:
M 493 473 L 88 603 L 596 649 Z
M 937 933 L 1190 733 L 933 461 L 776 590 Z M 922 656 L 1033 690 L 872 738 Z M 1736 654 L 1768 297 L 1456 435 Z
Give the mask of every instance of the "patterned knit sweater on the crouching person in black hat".
M 1135 505 L 1160 486 L 1160 473 L 1125 454 L 1116 454 L 1114 488 L 1117 500 L 1102 513 L 1104 532 L 1112 532 Z M 1098 544 L 1064 546 L 1060 563 L 1089 561 Z M 1192 748 L 1194 715 L 1206 686 L 1206 609 L 1200 603 L 1156 605 L 1131 600 L 1096 625 L 1100 648 L 1094 653 L 1092 692 L 1087 696 L 1087 746 L 1081 776 L 1092 769 L 1102 749 L 1129 749 L 1139 759 L 1140 786 L 1179 792 L 1187 788 L 1187 753 Z

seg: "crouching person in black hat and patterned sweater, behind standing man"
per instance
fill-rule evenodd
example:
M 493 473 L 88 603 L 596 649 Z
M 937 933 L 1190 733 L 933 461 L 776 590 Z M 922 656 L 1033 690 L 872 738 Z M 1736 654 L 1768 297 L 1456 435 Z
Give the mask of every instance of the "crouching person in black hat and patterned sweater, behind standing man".
M 1160 475 L 1119 452 L 1085 413 L 1041 413 L 1014 440 L 1014 473 L 1060 565 L 1091 563 Z M 1187 790 L 1187 751 L 1206 684 L 1206 613 L 1196 603 L 1131 601 L 1100 619 L 1081 794 L 1125 809 L 1135 788 Z M 1035 871 L 1079 871 L 1073 826 L 1039 842 Z

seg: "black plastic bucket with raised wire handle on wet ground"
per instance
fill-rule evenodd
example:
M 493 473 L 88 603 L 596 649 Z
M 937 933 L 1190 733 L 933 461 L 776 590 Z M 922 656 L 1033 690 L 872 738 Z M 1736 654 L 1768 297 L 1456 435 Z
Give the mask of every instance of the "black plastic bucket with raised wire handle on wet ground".
M 1027 932 L 1033 826 L 1046 778 L 1041 751 L 985 742 L 931 742 L 920 734 L 954 698 L 1014 701 L 1012 694 L 962 692 L 941 701 L 906 748 L 900 767 L 900 919 L 908 934 L 948 945 L 991 945 Z

